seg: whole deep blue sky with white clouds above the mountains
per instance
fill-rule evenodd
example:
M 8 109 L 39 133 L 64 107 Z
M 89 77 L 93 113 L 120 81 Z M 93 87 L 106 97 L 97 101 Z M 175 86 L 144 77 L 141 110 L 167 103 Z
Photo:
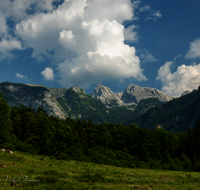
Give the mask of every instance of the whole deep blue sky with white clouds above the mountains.
M 199 0 L 1 0 L 0 83 L 200 85 Z

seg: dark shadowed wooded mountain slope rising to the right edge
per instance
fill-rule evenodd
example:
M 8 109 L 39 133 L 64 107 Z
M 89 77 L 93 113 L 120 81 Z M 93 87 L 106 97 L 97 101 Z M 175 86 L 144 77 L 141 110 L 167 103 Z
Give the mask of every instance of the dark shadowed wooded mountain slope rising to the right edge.
M 187 131 L 200 122 L 200 88 L 165 104 L 150 108 L 140 118 L 133 118 L 141 128 L 162 127 L 173 132 Z

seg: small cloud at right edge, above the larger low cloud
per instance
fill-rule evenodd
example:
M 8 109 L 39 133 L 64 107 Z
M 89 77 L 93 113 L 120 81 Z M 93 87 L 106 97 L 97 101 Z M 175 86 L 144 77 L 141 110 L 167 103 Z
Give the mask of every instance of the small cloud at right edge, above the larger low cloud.
M 190 50 L 185 57 L 189 59 L 200 57 L 200 39 L 190 43 Z

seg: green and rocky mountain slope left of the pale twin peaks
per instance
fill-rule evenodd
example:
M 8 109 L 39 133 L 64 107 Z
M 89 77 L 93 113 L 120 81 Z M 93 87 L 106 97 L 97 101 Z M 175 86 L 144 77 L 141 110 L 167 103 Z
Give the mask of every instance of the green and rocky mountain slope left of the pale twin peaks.
M 41 106 L 48 115 L 62 119 L 71 117 L 75 120 L 93 119 L 94 123 L 125 123 L 133 113 L 125 107 L 108 109 L 77 86 L 69 89 L 47 88 L 41 85 L 4 82 L 0 83 L 0 91 L 4 93 L 10 106 L 22 104 L 35 110 Z

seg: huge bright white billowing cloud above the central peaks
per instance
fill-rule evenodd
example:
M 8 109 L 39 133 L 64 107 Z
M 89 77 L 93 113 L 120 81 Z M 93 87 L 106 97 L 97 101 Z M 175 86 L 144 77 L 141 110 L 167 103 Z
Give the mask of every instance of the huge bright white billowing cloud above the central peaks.
M 38 62 L 55 64 L 63 86 L 87 88 L 110 78 L 147 80 L 135 48 L 124 43 L 137 39 L 134 25 L 123 26 L 134 18 L 136 5 L 130 0 L 65 0 L 57 9 L 23 19 L 15 34 Z M 49 72 L 45 69 L 44 77 Z

